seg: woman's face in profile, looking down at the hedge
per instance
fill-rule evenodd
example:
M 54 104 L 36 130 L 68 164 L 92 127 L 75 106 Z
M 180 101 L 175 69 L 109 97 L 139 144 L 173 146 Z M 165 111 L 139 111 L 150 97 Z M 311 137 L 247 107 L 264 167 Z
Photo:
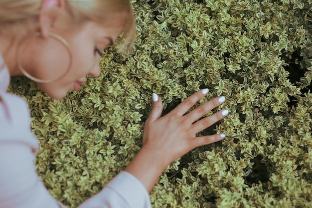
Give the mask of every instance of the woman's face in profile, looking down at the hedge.
M 122 17 L 116 15 L 112 19 L 110 26 L 104 27 L 96 22 L 88 21 L 73 30 L 57 32 L 69 44 L 72 56 L 70 68 L 70 55 L 66 47 L 52 37 L 41 38 L 41 40 L 36 37 L 32 45 L 40 44 L 40 47 L 33 46 L 33 50 L 27 47 L 30 55 L 24 56 L 21 62 L 25 60 L 25 57 L 33 60 L 25 61 L 31 65 L 25 65 L 27 67 L 24 68 L 32 69 L 31 73 L 36 78 L 60 77 L 52 83 L 38 83 L 38 86 L 52 98 L 60 99 L 66 96 L 69 90 L 79 90 L 80 84 L 87 81 L 87 75 L 93 77 L 100 75 L 99 53 L 110 46 L 122 31 L 124 22 Z

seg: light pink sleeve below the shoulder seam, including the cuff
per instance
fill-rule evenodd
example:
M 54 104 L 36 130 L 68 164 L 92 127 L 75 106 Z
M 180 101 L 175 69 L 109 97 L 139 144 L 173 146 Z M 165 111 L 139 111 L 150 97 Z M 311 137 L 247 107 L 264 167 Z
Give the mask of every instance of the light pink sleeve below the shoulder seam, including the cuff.
M 0 144 L 0 208 L 59 208 L 39 180 L 32 158 L 23 144 Z M 151 208 L 151 203 L 141 182 L 121 172 L 78 208 Z

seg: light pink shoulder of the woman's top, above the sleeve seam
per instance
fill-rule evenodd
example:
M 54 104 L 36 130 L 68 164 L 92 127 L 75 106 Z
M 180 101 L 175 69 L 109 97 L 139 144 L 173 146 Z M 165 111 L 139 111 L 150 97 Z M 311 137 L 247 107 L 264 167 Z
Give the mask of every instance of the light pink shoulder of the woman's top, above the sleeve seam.
M 23 142 L 38 148 L 30 130 L 30 112 L 21 97 L 0 91 L 0 142 Z

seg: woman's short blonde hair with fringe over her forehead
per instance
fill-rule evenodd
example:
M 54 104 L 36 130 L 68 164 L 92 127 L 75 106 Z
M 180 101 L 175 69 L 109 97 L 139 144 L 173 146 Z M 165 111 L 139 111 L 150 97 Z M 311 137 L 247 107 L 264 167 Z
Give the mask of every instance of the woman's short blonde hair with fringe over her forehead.
M 94 20 L 105 23 L 108 15 L 125 12 L 123 35 L 116 43 L 118 52 L 131 51 L 136 38 L 136 23 L 130 0 L 65 0 L 73 20 Z M 31 23 L 40 13 L 42 0 L 0 0 L 0 34 L 17 35 L 32 31 Z M 21 31 L 22 30 L 22 31 Z

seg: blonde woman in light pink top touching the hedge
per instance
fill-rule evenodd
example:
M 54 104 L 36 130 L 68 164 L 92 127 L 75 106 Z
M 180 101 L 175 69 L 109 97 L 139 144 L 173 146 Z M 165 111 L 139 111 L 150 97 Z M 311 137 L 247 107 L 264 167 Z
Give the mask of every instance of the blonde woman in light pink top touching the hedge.
M 87 75 L 100 75 L 100 51 L 121 33 L 120 50 L 131 48 L 134 28 L 129 0 L 0 0 L 0 208 L 64 207 L 52 199 L 35 172 L 38 143 L 29 130 L 25 102 L 6 92 L 10 76 L 25 75 L 52 98 L 62 98 L 71 89 L 79 90 Z M 149 193 L 171 162 L 225 137 L 195 136 L 228 114 L 222 110 L 197 121 L 224 97 L 185 115 L 207 92 L 199 90 L 163 117 L 162 102 L 154 93 L 142 149 L 79 208 L 150 208 Z

